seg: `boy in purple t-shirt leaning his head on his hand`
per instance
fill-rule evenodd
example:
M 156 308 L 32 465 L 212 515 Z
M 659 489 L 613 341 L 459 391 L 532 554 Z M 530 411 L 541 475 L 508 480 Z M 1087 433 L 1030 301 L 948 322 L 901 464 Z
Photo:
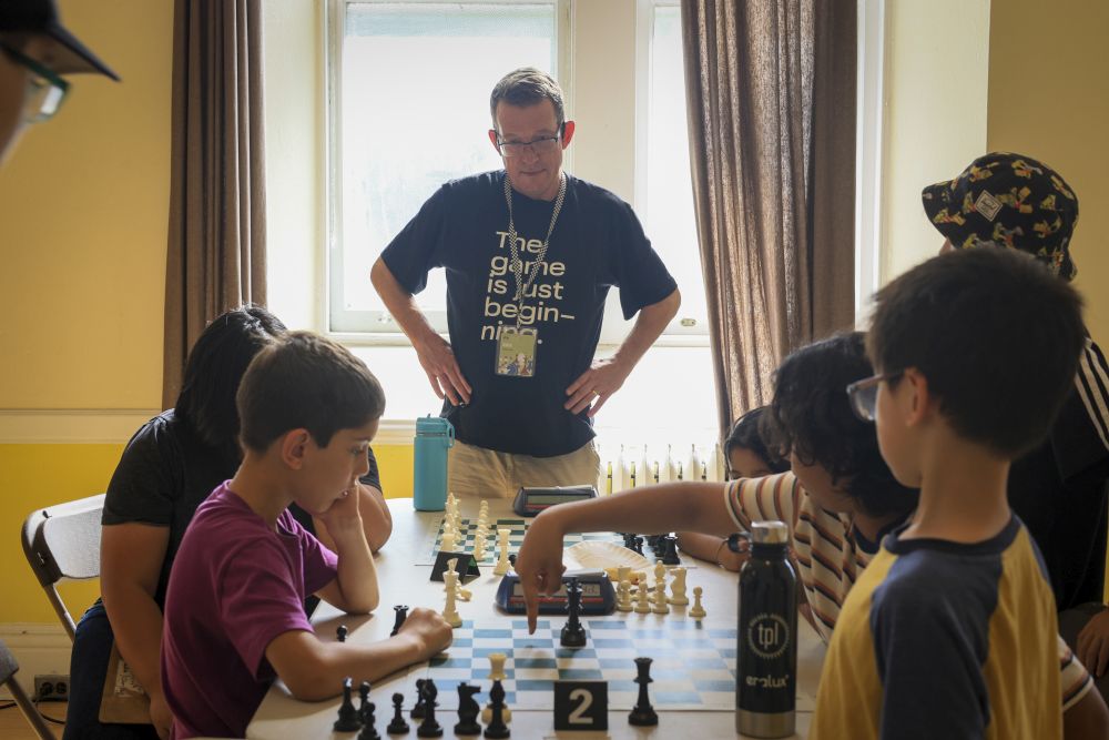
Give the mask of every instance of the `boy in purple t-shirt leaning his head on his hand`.
M 385 396 L 344 347 L 292 332 L 251 363 L 237 396 L 243 463 L 196 509 L 170 575 L 162 682 L 173 737 L 243 737 L 274 678 L 297 699 L 375 681 L 450 643 L 450 627 L 415 609 L 368 646 L 321 642 L 304 612 L 316 594 L 353 614 L 377 607 L 358 497 Z M 287 513 L 323 520 L 336 553 Z

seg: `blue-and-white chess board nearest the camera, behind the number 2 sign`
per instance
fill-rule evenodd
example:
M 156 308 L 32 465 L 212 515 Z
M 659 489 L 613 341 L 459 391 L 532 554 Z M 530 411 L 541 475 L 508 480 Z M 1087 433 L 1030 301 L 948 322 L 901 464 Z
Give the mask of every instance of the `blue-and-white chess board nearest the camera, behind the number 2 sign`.
M 464 621 L 455 640 L 429 663 L 414 666 L 404 676 L 374 687 L 378 706 L 394 691 L 405 695 L 409 708 L 416 697 L 416 679 L 431 678 L 437 701 L 445 711 L 458 709 L 457 687 L 477 683 L 481 706 L 489 701 L 491 652 L 508 656 L 507 678 L 501 682 L 510 709 L 553 710 L 554 681 L 603 680 L 608 682 L 609 708 L 630 710 L 635 704 L 634 658 L 651 665 L 651 703 L 658 710 L 732 711 L 735 709 L 735 626 L 696 622 L 683 615 L 618 614 L 584 618 L 588 642 L 571 649 L 559 645 L 564 620 L 540 619 L 535 635 L 527 621 L 506 618 L 475 624 Z M 815 698 L 797 697 L 798 710 L 812 710 Z

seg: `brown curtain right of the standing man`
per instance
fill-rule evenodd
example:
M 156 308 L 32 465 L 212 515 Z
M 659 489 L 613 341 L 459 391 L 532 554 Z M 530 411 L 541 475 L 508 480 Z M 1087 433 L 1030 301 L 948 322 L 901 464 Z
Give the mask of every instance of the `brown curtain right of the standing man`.
M 854 0 L 682 0 L 720 427 L 854 320 Z

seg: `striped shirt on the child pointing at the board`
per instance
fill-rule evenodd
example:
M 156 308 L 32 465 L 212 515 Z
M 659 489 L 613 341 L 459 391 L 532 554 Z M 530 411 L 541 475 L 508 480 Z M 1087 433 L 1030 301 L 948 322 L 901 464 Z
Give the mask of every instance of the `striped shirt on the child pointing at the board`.
M 877 553 L 877 545 L 855 530 L 848 515 L 816 506 L 793 473 L 732 480 L 724 487 L 724 504 L 741 531 L 750 531 L 752 521 L 766 519 L 790 527 L 805 599 L 816 632 L 827 642 L 847 592 Z M 1093 679 L 1062 638 L 1058 640 L 1066 711 L 1093 687 Z

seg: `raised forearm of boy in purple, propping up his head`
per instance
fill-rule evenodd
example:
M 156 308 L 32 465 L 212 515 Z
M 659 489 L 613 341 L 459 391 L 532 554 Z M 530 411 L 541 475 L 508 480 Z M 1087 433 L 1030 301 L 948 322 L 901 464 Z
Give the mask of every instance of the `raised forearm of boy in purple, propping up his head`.
M 335 544 L 338 572 L 317 595 L 332 606 L 350 614 L 373 611 L 380 602 L 377 567 L 358 515 L 358 496 L 348 493 L 318 518 L 327 527 Z

